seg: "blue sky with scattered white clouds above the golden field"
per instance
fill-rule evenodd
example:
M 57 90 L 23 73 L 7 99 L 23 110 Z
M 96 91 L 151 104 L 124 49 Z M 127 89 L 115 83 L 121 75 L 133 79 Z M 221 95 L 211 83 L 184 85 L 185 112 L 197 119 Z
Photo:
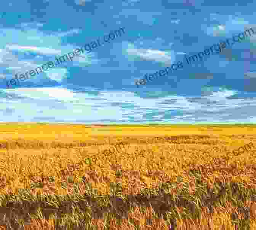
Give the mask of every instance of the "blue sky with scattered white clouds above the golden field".
M 253 1 L 1 3 L 0 122 L 256 122 L 256 35 L 136 87 L 146 73 L 255 28 Z M 254 17 L 253 17 L 254 14 Z M 45 73 L 34 70 L 114 30 L 125 33 Z

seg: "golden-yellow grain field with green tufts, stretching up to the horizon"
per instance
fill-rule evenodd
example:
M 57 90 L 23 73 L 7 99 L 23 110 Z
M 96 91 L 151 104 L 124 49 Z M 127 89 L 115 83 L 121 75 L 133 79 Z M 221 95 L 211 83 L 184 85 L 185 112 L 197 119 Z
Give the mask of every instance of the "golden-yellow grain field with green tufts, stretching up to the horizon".
M 255 133 L 0 124 L 0 229 L 256 229 Z

